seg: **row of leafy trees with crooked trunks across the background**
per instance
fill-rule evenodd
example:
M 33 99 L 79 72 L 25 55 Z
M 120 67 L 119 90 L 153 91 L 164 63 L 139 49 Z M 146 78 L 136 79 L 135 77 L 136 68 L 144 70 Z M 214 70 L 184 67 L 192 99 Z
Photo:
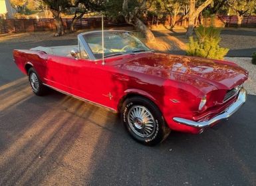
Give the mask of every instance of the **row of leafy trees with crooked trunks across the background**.
M 35 8 L 36 4 L 37 7 L 40 5 L 49 9 L 57 25 L 57 35 L 64 33 L 61 13 L 68 11 L 74 13 L 70 27 L 70 31 L 74 31 L 76 21 L 86 13 L 104 12 L 104 15 L 112 21 L 126 21 L 133 25 L 150 40 L 154 40 L 154 35 L 145 25 L 146 19 L 150 16 L 154 23 L 154 17 L 159 20 L 169 15 L 172 19 L 170 27 L 173 28 L 176 25 L 177 15 L 183 15 L 186 23 L 188 21 L 189 37 L 198 18 L 200 23 L 203 23 L 201 21 L 203 16 L 230 13 L 237 15 L 238 26 L 241 26 L 244 15 L 256 13 L 255 0 L 10 0 L 10 2 L 18 13 Z

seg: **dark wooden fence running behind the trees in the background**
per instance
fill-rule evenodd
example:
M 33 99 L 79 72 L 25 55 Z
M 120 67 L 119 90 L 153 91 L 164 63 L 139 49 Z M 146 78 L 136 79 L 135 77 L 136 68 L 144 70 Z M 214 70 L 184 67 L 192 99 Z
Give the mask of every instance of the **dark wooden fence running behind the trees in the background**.
M 153 20 L 153 24 L 162 23 L 163 25 L 171 25 L 171 16 L 158 20 L 157 17 Z M 152 24 L 152 18 L 144 20 L 148 25 Z M 63 18 L 64 29 L 70 29 L 72 18 Z M 124 26 L 126 23 L 114 24 L 105 19 L 105 27 L 109 26 Z M 203 25 L 214 25 L 215 27 L 236 27 L 236 16 L 218 16 L 214 19 L 203 19 Z M 92 29 L 101 26 L 101 17 L 81 18 L 76 21 L 75 29 Z M 178 15 L 176 17 L 176 26 L 187 27 L 188 20 L 186 17 Z M 242 27 L 256 27 L 256 15 L 245 16 L 242 21 Z M 22 33 L 34 31 L 55 31 L 54 19 L 0 19 L 0 33 Z

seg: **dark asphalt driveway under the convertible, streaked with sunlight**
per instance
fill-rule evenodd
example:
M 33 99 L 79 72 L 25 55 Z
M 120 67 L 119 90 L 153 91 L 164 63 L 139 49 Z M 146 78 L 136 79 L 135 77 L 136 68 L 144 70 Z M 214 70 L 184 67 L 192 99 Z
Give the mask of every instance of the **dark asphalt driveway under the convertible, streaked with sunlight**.
M 11 50 L 38 45 L 60 41 L 0 44 L 0 185 L 256 185 L 256 96 L 201 135 L 145 147 L 111 112 L 34 96 Z

